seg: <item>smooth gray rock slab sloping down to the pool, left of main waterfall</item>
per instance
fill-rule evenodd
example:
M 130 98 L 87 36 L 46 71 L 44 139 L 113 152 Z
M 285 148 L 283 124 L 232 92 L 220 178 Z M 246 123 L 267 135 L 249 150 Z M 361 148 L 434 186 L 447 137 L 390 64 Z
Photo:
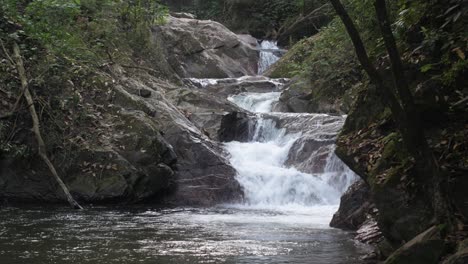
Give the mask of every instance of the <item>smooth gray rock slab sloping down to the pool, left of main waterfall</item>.
M 139 96 L 141 89 L 150 90 L 152 95 Z M 161 134 L 177 155 L 175 191 L 166 201 L 184 205 L 239 201 L 242 190 L 221 143 L 210 139 L 186 112 L 165 97 L 174 90 L 178 88 L 154 78 L 146 82 L 122 80 L 114 89 L 116 103 L 143 111 L 158 122 Z

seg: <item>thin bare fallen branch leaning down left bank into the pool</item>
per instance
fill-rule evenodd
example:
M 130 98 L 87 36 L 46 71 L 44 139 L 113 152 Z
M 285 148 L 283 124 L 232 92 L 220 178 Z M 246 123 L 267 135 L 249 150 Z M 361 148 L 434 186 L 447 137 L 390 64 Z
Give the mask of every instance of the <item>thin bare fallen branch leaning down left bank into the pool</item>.
M 55 180 L 61 187 L 62 191 L 64 192 L 68 203 L 75 209 L 83 209 L 76 201 L 73 199 L 72 195 L 70 194 L 70 191 L 68 190 L 67 186 L 65 183 L 62 181 L 62 179 L 59 177 L 57 170 L 55 169 L 54 165 L 50 161 L 49 157 L 47 156 L 46 152 L 46 146 L 44 143 L 44 140 L 42 139 L 41 131 L 40 131 L 40 123 L 39 123 L 39 117 L 37 116 L 36 108 L 34 107 L 34 101 L 31 95 L 31 92 L 28 89 L 28 80 L 26 77 L 26 71 L 24 69 L 24 64 L 23 64 L 23 59 L 20 54 L 20 49 L 18 44 L 15 42 L 13 46 L 13 55 L 16 59 L 16 68 L 18 70 L 19 77 L 21 79 L 21 87 L 22 90 L 24 91 L 24 98 L 26 99 L 28 105 L 29 105 L 29 112 L 31 114 L 32 122 L 33 122 L 33 132 L 34 135 L 36 136 L 37 144 L 38 144 L 38 152 L 39 156 L 42 158 L 42 160 L 47 164 L 47 167 L 49 168 L 50 172 L 54 176 Z

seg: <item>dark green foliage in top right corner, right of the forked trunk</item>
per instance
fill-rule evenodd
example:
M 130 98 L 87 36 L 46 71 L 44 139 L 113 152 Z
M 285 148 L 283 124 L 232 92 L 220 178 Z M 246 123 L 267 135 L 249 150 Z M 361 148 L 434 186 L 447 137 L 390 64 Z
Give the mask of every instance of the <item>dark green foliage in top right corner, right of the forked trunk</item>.
M 467 17 L 468 6 L 462 0 L 401 0 L 395 26 L 400 35 L 408 36 L 406 48 L 411 54 L 430 54 L 420 59 L 421 72 L 450 86 L 468 70 Z M 422 41 L 415 45 L 409 38 L 418 33 Z

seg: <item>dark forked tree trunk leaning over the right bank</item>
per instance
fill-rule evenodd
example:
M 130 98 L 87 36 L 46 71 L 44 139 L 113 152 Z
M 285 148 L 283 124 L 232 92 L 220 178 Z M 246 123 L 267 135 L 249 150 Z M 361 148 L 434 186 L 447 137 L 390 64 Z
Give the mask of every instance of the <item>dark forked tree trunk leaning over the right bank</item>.
M 440 173 L 424 136 L 424 131 L 417 116 L 416 107 L 414 106 L 413 96 L 404 77 L 403 63 L 401 62 L 400 54 L 398 53 L 390 28 L 385 0 L 376 0 L 375 8 L 387 52 L 392 63 L 394 87 L 384 82 L 370 61 L 359 32 L 340 0 L 330 0 L 330 2 L 345 25 L 361 66 L 369 75 L 371 82 L 382 93 L 382 97 L 387 99 L 386 103 L 390 107 L 395 123 L 398 125 L 403 143 L 410 155 L 415 159 L 418 173 L 422 176 L 429 175 L 433 180 L 434 198 L 432 204 L 436 220 L 439 222 L 450 221 L 448 219 L 447 199 L 444 199 L 443 192 L 441 191 Z

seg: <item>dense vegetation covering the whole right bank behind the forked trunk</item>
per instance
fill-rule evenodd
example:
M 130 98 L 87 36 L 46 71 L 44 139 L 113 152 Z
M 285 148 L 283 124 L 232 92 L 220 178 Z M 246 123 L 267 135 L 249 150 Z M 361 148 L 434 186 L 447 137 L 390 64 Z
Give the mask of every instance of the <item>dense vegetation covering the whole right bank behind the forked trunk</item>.
M 386 85 L 393 85 L 374 1 L 343 2 L 361 34 L 371 63 L 384 76 Z M 274 77 L 294 78 L 288 93 L 299 94 L 299 99 L 310 105 L 310 111 L 329 111 L 316 106 L 318 102 L 328 102 L 336 105 L 335 111 L 349 114 L 337 153 L 370 186 L 379 210 L 376 216 L 379 227 L 388 239 L 386 246 L 380 245 L 384 256 L 388 256 L 388 251 L 385 253 L 388 245 L 397 248 L 437 223 L 443 230 L 442 237 L 451 243 L 466 237 L 463 226 L 467 198 L 461 189 L 467 186 L 463 175 L 468 168 L 465 140 L 468 7 L 464 1 L 456 0 L 449 4 L 437 0 L 387 3 L 405 81 L 416 102 L 410 114 L 415 114 L 418 122 L 413 125 L 419 123 L 418 129 L 424 130 L 428 138 L 438 177 L 421 173 L 417 168 L 420 160 L 415 160 L 411 153 L 422 150 L 402 143 L 402 134 L 397 129 L 402 120 L 392 120 L 387 107 L 389 98 L 370 82 L 338 18 L 316 36 L 297 43 L 270 72 Z M 444 217 L 438 212 L 440 204 L 434 203 L 438 195 L 443 196 L 442 206 L 449 211 Z M 406 250 L 411 251 L 408 254 L 417 254 L 414 249 Z M 437 252 L 432 260 L 423 260 L 420 255 L 408 263 L 437 263 L 445 250 L 430 247 L 427 251 Z M 386 263 L 400 263 L 404 257 L 398 254 L 406 254 L 403 252 L 397 251 Z

